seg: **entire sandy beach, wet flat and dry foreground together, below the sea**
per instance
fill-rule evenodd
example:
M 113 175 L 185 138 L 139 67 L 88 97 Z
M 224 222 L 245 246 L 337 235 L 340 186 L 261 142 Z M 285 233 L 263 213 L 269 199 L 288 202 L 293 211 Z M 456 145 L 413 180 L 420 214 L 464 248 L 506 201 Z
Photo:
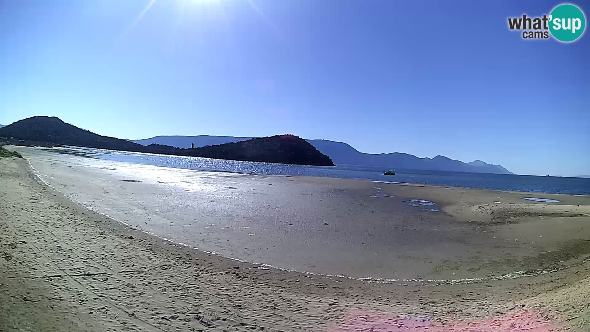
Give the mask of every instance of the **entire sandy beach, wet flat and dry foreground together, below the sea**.
M 588 196 L 122 177 L 17 150 L 0 159 L 2 331 L 590 330 Z

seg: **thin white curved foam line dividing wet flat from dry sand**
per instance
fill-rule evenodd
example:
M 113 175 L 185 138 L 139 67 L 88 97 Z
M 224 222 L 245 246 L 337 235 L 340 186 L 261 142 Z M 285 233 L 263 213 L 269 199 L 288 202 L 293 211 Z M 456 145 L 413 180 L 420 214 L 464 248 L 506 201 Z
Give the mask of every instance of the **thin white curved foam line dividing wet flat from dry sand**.
M 47 183 L 47 181 L 45 181 L 41 177 L 41 175 L 44 175 L 44 174 L 41 174 L 39 171 L 35 170 L 35 168 L 31 164 L 31 161 L 28 160 L 28 158 L 25 158 L 25 160 L 27 160 L 29 166 L 33 170 L 33 173 L 35 175 L 37 175 L 37 177 L 39 178 L 39 180 L 41 180 L 41 182 L 43 184 L 47 185 L 48 187 L 50 187 L 51 189 L 57 191 L 58 193 L 63 194 L 63 193 L 61 193 L 61 191 L 55 189 L 55 187 L 53 187 L 53 185 Z M 47 176 L 47 175 L 45 175 L 45 176 Z M 109 216 L 106 213 L 102 213 L 100 211 L 97 211 L 93 207 L 86 206 L 85 204 L 80 203 L 80 202 L 77 202 L 77 201 L 75 201 L 75 200 L 73 200 L 71 198 L 70 198 L 70 200 L 73 201 L 73 203 L 76 203 L 79 206 L 85 207 L 88 210 L 91 210 L 93 212 L 96 212 L 98 214 L 101 214 L 102 216 L 109 217 L 110 219 L 113 219 L 115 222 L 122 223 L 125 226 L 129 227 L 130 229 L 137 230 L 139 232 L 145 233 L 145 234 L 150 235 L 150 236 L 154 236 L 154 237 L 156 237 L 158 239 L 164 240 L 165 242 L 169 242 L 172 245 L 177 246 L 178 248 L 182 248 L 182 247 L 191 248 L 189 245 L 186 245 L 185 243 L 173 242 L 170 239 L 166 239 L 166 237 L 155 235 L 155 234 L 150 233 L 150 232 L 148 232 L 146 230 L 142 230 L 142 229 L 139 229 L 137 227 L 134 227 L 134 226 L 132 226 L 132 225 L 126 223 L 126 222 L 117 220 L 114 217 Z M 490 277 L 487 277 L 487 278 L 464 278 L 464 279 L 391 279 L 391 278 L 373 278 L 372 276 L 368 276 L 368 277 L 365 277 L 365 278 L 355 278 L 355 277 L 348 276 L 348 275 L 321 274 L 321 273 L 314 273 L 314 272 L 309 272 L 309 271 L 299 271 L 299 270 L 295 270 L 295 269 L 279 268 L 278 266 L 273 266 L 273 265 L 266 264 L 266 263 L 255 263 L 255 262 L 244 261 L 243 259 L 240 259 L 240 258 L 223 256 L 220 253 L 210 252 L 210 251 L 207 251 L 207 250 L 198 249 L 196 247 L 193 247 L 192 249 L 197 250 L 197 251 L 200 251 L 200 252 L 208 253 L 209 255 L 215 255 L 215 256 L 218 256 L 219 258 L 231 259 L 232 261 L 237 261 L 237 262 L 241 262 L 241 263 L 248 263 L 248 264 L 256 265 L 256 267 L 258 267 L 258 268 L 263 268 L 263 269 L 270 268 L 270 269 L 275 269 L 277 271 L 284 271 L 284 272 L 291 272 L 291 273 L 295 272 L 295 273 L 299 273 L 299 274 L 304 274 L 304 276 L 307 276 L 307 275 L 316 275 L 316 276 L 322 276 L 324 278 L 329 278 L 329 279 L 332 279 L 332 278 L 343 278 L 343 279 L 350 279 L 350 280 L 357 280 L 357 281 L 365 281 L 365 282 L 369 282 L 369 283 L 373 283 L 373 284 L 394 284 L 396 282 L 413 282 L 413 283 L 423 284 L 423 285 L 424 284 L 435 284 L 435 285 L 427 285 L 427 286 L 433 286 L 433 287 L 438 286 L 438 285 L 442 285 L 442 284 L 446 284 L 446 285 L 474 284 L 476 282 L 507 280 L 507 279 L 524 278 L 524 277 L 529 277 L 529 276 L 545 275 L 545 274 L 550 274 L 550 273 L 553 273 L 553 272 L 562 271 L 564 269 L 571 268 L 573 266 L 579 266 L 579 265 L 582 265 L 584 263 L 590 262 L 590 259 L 585 259 L 584 261 L 579 262 L 577 264 L 572 264 L 572 265 L 565 266 L 565 267 L 560 268 L 560 269 L 554 269 L 554 270 L 551 270 L 551 271 L 529 271 L 529 272 L 515 271 L 515 272 L 510 272 L 509 274 L 504 274 L 504 275 L 499 275 L 499 276 L 490 276 Z M 309 276 L 308 276 L 308 278 L 309 278 Z M 398 286 L 409 286 L 409 285 L 398 284 Z

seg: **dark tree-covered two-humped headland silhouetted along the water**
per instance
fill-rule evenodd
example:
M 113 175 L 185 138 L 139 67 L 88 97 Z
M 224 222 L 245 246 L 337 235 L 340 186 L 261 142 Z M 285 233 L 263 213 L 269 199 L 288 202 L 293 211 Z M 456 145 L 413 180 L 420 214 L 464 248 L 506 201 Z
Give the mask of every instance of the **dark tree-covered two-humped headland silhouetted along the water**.
M 125 139 L 94 134 L 70 123 L 65 123 L 55 116 L 33 116 L 0 128 L 0 137 L 58 145 L 188 157 L 315 166 L 334 165 L 330 157 L 317 151 L 312 144 L 295 135 L 253 138 L 207 147 L 178 148 L 163 144 L 137 144 Z

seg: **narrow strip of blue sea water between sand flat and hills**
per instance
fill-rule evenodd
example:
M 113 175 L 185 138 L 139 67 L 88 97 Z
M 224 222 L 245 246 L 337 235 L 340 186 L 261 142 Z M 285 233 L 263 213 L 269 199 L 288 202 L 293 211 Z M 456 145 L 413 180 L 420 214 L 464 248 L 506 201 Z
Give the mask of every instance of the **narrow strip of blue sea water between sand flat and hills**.
M 244 172 L 270 175 L 304 175 L 312 177 L 363 178 L 374 181 L 448 185 L 532 193 L 590 195 L 590 178 L 545 177 L 535 175 L 484 174 L 467 172 L 400 170 L 395 176 L 383 175 L 382 167 L 337 165 L 336 167 L 272 164 L 269 162 L 233 161 L 197 157 L 120 152 L 93 148 L 53 149 L 55 152 L 189 170 Z M 392 165 L 395 167 L 395 165 Z

